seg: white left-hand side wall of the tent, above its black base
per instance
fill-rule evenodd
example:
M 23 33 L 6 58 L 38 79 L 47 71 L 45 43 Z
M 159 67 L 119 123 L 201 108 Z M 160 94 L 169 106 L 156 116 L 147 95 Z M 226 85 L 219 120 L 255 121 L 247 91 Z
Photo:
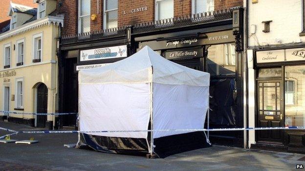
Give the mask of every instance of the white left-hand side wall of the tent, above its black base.
M 150 85 L 80 84 L 80 131 L 148 130 Z M 147 138 L 147 132 L 89 133 Z

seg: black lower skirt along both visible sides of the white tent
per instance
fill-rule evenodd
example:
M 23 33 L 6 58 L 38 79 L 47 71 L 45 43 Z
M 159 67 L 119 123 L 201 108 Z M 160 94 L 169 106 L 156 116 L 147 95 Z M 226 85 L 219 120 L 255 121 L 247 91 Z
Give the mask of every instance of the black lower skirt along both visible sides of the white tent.
M 155 138 L 153 144 L 155 148 L 154 154 L 151 156 L 144 138 L 108 137 L 81 133 L 78 147 L 82 149 L 89 147 L 98 152 L 138 155 L 148 158 L 165 158 L 180 152 L 211 147 L 207 143 L 203 132 L 182 133 Z

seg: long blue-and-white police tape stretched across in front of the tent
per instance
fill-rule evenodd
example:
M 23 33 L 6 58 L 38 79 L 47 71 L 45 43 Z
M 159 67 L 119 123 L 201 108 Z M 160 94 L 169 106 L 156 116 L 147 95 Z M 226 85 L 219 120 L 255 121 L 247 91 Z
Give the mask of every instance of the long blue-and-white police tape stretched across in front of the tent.
M 260 127 L 260 128 L 217 128 L 217 129 L 166 129 L 166 130 L 110 130 L 110 131 L 65 131 L 65 130 L 45 130 L 45 131 L 14 131 L 6 128 L 0 128 L 15 133 L 132 133 L 132 132 L 196 132 L 196 131 L 253 131 L 253 130 L 300 130 L 302 127 Z

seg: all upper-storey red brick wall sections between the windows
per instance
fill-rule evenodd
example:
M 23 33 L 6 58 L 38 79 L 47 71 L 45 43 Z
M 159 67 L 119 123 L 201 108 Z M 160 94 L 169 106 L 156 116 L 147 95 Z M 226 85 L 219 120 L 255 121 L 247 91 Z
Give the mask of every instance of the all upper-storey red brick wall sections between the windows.
M 223 10 L 227 8 L 242 6 L 243 0 L 214 0 L 214 9 Z M 147 7 L 147 10 L 131 13 L 131 10 Z M 97 18 L 90 21 L 90 31 L 104 29 L 104 1 L 91 0 L 90 12 Z M 65 25 L 63 35 L 77 34 L 78 23 L 78 0 L 58 0 L 58 14 L 65 14 Z M 192 0 L 174 0 L 174 17 L 192 14 Z M 118 27 L 134 25 L 154 21 L 154 0 L 118 0 Z

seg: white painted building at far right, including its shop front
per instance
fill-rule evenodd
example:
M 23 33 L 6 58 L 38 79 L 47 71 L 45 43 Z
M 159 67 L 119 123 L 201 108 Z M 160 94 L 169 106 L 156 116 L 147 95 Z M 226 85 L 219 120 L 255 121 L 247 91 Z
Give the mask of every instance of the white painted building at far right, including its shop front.
M 248 127 L 305 126 L 305 0 L 247 0 Z M 248 146 L 305 152 L 305 131 L 249 131 Z

